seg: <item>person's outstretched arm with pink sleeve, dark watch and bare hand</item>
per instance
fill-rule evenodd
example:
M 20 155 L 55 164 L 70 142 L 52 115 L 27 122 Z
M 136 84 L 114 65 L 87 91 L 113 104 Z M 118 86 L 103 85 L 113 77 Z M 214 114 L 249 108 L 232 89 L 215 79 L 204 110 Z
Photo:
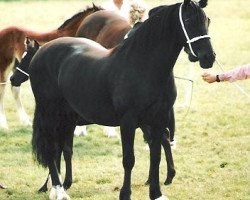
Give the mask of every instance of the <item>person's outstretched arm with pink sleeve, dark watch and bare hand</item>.
M 208 83 L 214 83 L 220 81 L 233 82 L 237 80 L 248 79 L 250 78 L 250 64 L 217 75 L 204 73 L 202 75 L 202 78 L 204 81 Z

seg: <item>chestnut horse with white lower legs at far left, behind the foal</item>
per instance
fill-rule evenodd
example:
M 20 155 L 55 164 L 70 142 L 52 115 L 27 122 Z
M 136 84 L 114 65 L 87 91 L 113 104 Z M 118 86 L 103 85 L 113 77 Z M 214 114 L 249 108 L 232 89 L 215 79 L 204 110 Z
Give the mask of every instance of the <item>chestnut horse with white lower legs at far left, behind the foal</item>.
M 29 37 L 37 40 L 40 44 L 44 44 L 45 42 L 59 37 L 75 36 L 83 19 L 99 10 L 102 10 L 102 8 L 93 4 L 92 7 L 87 7 L 85 10 L 75 14 L 70 19 L 66 20 L 58 29 L 50 32 L 40 33 L 18 26 L 10 26 L 0 31 L 0 127 L 8 128 L 3 110 L 5 83 L 12 62 L 14 60 L 20 61 L 25 52 L 25 38 Z M 12 93 L 17 103 L 21 122 L 26 125 L 31 124 L 20 101 L 20 88 L 12 87 Z

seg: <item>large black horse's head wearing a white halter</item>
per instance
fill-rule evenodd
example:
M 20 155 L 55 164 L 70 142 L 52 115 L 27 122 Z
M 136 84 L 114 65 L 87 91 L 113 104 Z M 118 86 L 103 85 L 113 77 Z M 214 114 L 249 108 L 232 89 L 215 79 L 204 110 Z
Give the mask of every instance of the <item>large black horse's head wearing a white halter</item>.
M 210 68 L 215 61 L 215 53 L 208 36 L 210 19 L 206 17 L 202 8 L 208 0 L 199 3 L 184 0 L 179 9 L 179 20 L 185 41 L 184 51 L 191 62 L 200 62 L 202 68 Z

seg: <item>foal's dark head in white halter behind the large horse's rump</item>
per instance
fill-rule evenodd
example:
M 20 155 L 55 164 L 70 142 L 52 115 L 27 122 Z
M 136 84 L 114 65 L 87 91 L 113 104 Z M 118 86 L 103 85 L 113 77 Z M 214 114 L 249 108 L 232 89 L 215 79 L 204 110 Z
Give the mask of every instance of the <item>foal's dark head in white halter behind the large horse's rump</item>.
M 39 44 L 36 40 L 31 41 L 29 38 L 26 38 L 26 51 L 24 52 L 22 59 L 19 65 L 16 67 L 13 75 L 10 77 L 11 85 L 18 87 L 23 82 L 29 79 L 29 65 L 39 49 Z

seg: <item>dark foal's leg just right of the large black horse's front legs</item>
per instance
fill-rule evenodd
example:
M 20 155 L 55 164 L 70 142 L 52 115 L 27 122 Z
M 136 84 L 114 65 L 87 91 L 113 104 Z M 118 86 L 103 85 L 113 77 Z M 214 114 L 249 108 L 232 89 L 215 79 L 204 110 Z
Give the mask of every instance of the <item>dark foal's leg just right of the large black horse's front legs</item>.
M 166 129 L 166 133 L 163 134 L 162 140 L 161 140 L 161 145 L 163 146 L 165 156 L 166 156 L 166 161 L 167 161 L 167 178 L 164 182 L 165 185 L 169 185 L 172 183 L 173 178 L 176 173 L 175 168 L 174 168 L 172 151 L 170 147 L 169 135 L 170 135 L 169 130 Z

